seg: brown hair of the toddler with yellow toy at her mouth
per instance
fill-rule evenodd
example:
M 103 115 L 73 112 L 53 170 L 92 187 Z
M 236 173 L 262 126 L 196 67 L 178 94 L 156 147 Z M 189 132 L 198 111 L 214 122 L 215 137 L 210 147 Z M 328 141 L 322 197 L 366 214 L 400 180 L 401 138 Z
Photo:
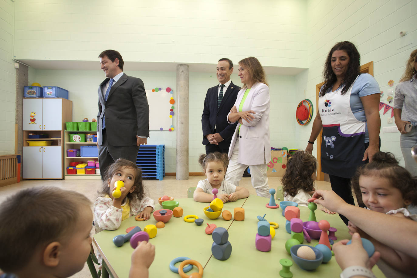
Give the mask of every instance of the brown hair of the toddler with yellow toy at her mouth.
M 145 197 L 145 186 L 142 182 L 142 170 L 130 160 L 124 158 L 118 158 L 115 160 L 108 168 L 104 174 L 103 187 L 101 190 L 98 190 L 97 193 L 99 196 L 110 196 L 110 187 L 108 187 L 108 181 L 111 180 L 113 175 L 123 168 L 131 168 L 135 173 L 135 182 L 133 186 L 136 186 L 135 190 L 132 193 L 128 193 L 126 196 L 129 199 L 129 202 L 133 199 L 133 196 L 137 196 L 139 200 L 142 200 Z

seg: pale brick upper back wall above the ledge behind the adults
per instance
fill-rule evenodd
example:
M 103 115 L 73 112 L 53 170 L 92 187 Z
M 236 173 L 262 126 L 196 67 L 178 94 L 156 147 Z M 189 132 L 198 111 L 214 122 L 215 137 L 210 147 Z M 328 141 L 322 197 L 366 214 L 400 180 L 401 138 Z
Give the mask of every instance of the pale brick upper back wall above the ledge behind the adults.
M 54 2 L 16 2 L 16 59 L 95 60 L 117 48 L 125 61 L 307 65 L 306 0 Z

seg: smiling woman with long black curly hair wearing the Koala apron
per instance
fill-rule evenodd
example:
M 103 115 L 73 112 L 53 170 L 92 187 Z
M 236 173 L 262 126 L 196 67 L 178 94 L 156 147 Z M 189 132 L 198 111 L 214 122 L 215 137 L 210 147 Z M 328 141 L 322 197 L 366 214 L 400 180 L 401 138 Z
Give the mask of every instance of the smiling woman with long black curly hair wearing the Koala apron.
M 329 174 L 332 190 L 354 205 L 350 178 L 358 166 L 379 151 L 379 85 L 367 73 L 360 74 L 355 45 L 334 45 L 324 65 L 324 85 L 306 151 L 311 153 L 322 133 L 322 172 Z M 362 202 L 362 201 L 361 201 Z M 348 219 L 340 215 L 345 224 Z

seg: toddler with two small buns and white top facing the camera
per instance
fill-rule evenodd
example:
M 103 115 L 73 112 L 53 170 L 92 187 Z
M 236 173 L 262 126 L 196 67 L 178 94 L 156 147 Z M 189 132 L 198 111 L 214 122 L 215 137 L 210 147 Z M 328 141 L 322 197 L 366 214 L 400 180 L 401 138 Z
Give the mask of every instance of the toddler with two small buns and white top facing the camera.
M 217 188 L 217 198 L 222 200 L 223 203 L 249 197 L 249 190 L 224 180 L 227 165 L 229 165 L 229 157 L 226 153 L 215 152 L 209 153 L 208 155 L 202 154 L 198 159 L 198 163 L 200 163 L 207 178 L 198 182 L 193 195 L 194 200 L 210 203 L 213 200 L 211 193 L 213 188 Z

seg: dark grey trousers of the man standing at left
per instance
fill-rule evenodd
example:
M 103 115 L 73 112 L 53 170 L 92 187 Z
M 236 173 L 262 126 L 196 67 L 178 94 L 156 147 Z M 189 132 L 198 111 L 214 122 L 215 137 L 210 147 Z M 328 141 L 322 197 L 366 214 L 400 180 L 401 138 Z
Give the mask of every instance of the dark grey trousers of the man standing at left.
M 136 164 L 139 147 L 133 146 L 111 146 L 107 142 L 106 129 L 103 130 L 103 143 L 98 146 L 98 161 L 100 163 L 100 175 L 104 180 L 108 167 L 118 158 L 125 158 Z

